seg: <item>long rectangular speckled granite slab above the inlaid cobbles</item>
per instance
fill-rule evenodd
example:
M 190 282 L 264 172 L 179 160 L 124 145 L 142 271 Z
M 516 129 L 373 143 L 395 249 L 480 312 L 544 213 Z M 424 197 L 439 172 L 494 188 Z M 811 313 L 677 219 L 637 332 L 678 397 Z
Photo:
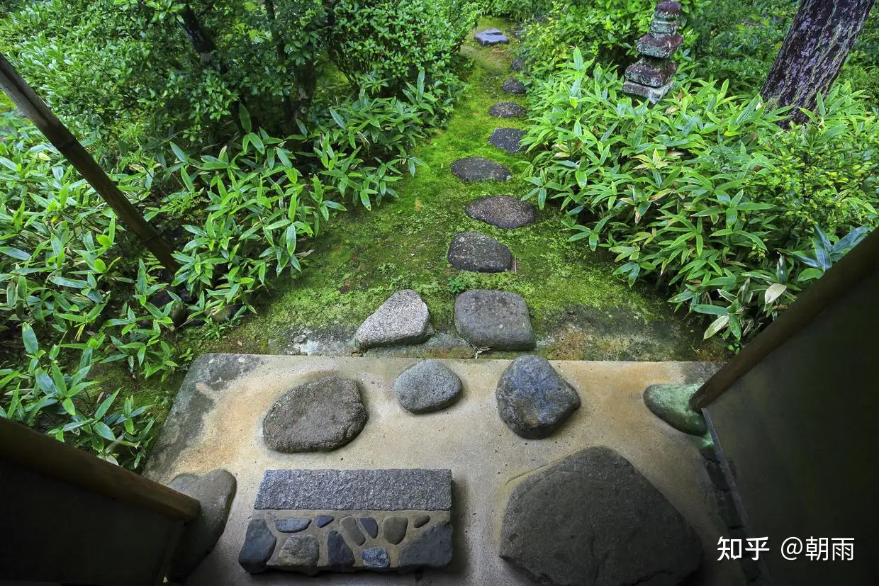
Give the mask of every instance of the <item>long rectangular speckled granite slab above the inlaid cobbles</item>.
M 451 510 L 452 471 L 267 470 L 256 510 Z

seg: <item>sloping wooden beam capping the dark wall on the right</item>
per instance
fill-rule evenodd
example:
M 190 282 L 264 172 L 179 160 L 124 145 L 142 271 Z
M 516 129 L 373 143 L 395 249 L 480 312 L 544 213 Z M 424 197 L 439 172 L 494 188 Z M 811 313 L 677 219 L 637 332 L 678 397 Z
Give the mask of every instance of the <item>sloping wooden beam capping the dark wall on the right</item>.
M 839 259 L 824 276 L 779 315 L 778 319 L 745 344 L 734 358 L 708 379 L 690 399 L 690 407 L 701 411 L 729 390 L 755 365 L 769 356 L 781 344 L 806 328 L 816 317 L 839 301 L 861 279 L 879 270 L 879 229 L 864 238 L 860 244 Z M 865 311 L 869 311 L 867 307 Z

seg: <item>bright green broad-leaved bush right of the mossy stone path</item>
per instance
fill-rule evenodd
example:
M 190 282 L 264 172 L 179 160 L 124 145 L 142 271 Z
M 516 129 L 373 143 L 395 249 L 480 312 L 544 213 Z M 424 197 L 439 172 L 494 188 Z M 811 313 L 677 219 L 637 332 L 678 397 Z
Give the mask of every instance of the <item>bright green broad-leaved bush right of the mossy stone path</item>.
M 579 50 L 541 84 L 529 197 L 558 200 L 571 240 L 616 253 L 630 284 L 652 279 L 715 315 L 706 336 L 748 339 L 787 307 L 820 275 L 801 250 L 812 235 L 839 256 L 877 223 L 875 114 L 848 86 L 789 132 L 725 83 L 686 81 L 657 107 L 621 86 Z

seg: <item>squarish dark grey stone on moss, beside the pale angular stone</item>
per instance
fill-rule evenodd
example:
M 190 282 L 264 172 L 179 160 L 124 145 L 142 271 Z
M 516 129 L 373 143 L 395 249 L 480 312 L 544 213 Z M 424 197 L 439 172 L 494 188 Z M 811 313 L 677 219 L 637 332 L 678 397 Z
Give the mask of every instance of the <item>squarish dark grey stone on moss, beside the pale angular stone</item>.
M 537 344 L 528 306 L 518 293 L 465 291 L 454 300 L 454 325 L 476 348 L 532 350 Z

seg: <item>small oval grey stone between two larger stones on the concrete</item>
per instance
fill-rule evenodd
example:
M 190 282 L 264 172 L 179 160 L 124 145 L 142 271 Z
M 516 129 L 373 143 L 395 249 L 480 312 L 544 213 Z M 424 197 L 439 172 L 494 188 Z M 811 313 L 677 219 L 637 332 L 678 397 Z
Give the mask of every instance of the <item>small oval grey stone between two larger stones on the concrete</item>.
M 394 381 L 396 401 L 410 413 L 428 413 L 448 407 L 461 396 L 461 388 L 458 375 L 439 360 L 419 362 Z

